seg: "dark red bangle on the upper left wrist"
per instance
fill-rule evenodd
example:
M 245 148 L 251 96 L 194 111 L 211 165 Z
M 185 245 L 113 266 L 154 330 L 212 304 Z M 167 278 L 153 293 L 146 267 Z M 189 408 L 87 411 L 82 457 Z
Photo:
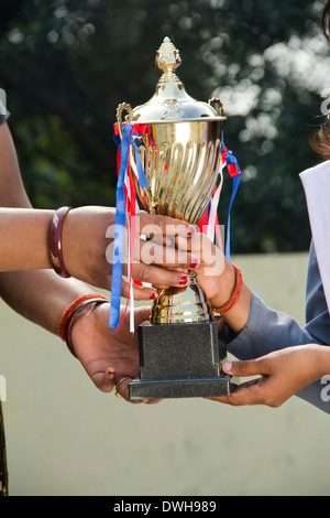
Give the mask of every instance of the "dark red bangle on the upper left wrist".
M 52 265 L 56 273 L 64 278 L 72 277 L 64 265 L 62 242 L 64 219 L 70 209 L 72 207 L 61 207 L 55 212 L 50 235 L 50 252 Z

